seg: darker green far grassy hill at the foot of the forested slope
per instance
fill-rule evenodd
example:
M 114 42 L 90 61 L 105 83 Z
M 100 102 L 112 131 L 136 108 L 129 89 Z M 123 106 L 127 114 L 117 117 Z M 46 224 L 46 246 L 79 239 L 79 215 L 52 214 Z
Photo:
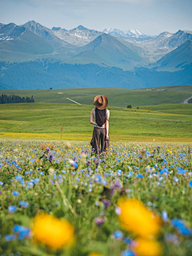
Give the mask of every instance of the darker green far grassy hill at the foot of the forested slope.
M 161 89 L 165 91 L 161 91 Z M 49 87 L 48 87 L 49 89 Z M 60 94 L 59 94 L 60 93 Z M 167 103 L 182 103 L 192 95 L 192 86 L 161 87 L 154 90 L 130 90 L 117 88 L 83 88 L 57 90 L 0 90 L 0 94 L 17 94 L 22 97 L 34 96 L 38 103 L 71 103 L 70 98 L 81 104 L 93 105 L 94 97 L 105 94 L 109 98 L 109 106 L 149 106 Z M 74 103 L 75 104 L 75 103 Z

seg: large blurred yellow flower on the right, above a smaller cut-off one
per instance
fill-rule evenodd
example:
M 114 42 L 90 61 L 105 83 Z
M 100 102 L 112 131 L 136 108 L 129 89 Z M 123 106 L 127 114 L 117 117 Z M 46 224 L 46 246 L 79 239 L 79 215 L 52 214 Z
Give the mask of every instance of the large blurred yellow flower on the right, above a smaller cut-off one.
M 153 238 L 158 234 L 161 219 L 143 206 L 142 202 L 137 199 L 120 198 L 118 206 L 121 209 L 118 217 L 122 228 L 142 238 Z

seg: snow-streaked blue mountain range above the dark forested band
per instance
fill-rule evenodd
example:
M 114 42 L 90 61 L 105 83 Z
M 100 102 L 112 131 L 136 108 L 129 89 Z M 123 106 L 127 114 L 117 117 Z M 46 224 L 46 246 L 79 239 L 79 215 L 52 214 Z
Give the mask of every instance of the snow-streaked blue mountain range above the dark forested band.
M 46 65 L 48 65 L 47 63 L 60 63 L 60 65 L 66 63 L 70 66 L 70 70 L 72 66 L 76 70 L 77 66 L 75 67 L 75 65 L 89 66 L 94 64 L 102 69 L 116 67 L 115 74 L 119 76 L 120 80 L 123 77 L 122 74 L 126 74 L 126 78 L 128 74 L 121 73 L 122 71 L 130 70 L 132 75 L 136 74 L 138 69 L 141 70 L 140 73 L 138 72 L 139 75 L 143 75 L 145 72 L 149 74 L 148 70 L 172 73 L 185 70 L 184 73 L 187 76 L 187 72 L 190 72 L 192 67 L 191 44 L 192 32 L 188 30 L 178 30 L 175 34 L 163 32 L 158 36 L 150 36 L 142 34 L 136 29 L 123 31 L 109 28 L 97 31 L 78 26 L 73 30 L 66 30 L 61 27 L 50 29 L 34 21 L 26 22 L 22 26 L 17 26 L 14 23 L 0 23 L 0 63 L 3 63 L 3 65 L 1 64 L 2 69 L 9 70 L 11 65 L 6 64 L 5 66 L 7 62 L 14 62 L 17 66 L 18 63 L 22 63 L 22 66 L 27 67 L 28 74 L 32 71 L 27 63 L 34 62 L 35 69 L 39 65 L 37 63 L 41 63 L 40 65 L 42 63 L 46 63 Z M 11 66 L 11 69 L 15 69 L 14 66 Z M 90 70 L 93 71 L 94 69 L 95 66 L 91 66 Z M 120 72 L 119 69 L 122 71 Z M 44 71 L 42 70 L 41 76 L 45 74 Z M 109 74 L 103 70 L 102 72 Z M 70 74 L 74 75 L 72 71 Z M 155 78 L 158 77 L 158 73 L 154 71 L 151 74 L 155 74 Z M 175 74 L 177 79 L 178 74 Z M 10 74 L 9 72 L 2 73 L 2 76 L 5 75 Z M 134 76 L 132 78 L 134 88 L 137 88 L 137 85 L 139 87 L 148 85 L 141 80 L 138 82 L 138 78 L 134 79 Z M 175 81 L 175 78 L 173 79 Z M 189 79 L 190 74 L 186 81 L 190 82 Z M 4 87 L 8 86 L 8 80 L 0 77 L 0 89 L 1 84 Z M 125 82 L 125 79 L 123 81 Z M 182 78 L 178 81 L 181 83 Z M 119 82 L 119 84 L 122 83 Z M 130 86 L 129 83 L 127 86 Z

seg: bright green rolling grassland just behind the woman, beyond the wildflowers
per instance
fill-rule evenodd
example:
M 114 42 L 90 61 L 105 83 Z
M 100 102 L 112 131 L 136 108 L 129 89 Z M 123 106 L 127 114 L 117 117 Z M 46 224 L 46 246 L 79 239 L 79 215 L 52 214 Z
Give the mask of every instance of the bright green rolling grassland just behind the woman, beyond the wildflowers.
M 170 110 L 179 109 L 169 105 Z M 109 107 L 111 140 L 156 140 L 190 142 L 192 136 L 192 108 L 185 105 L 182 113 L 165 110 L 146 110 Z M 49 103 L 5 104 L 0 110 L 0 136 L 16 138 L 90 139 L 90 110 L 93 106 Z M 148 110 L 147 110 L 148 109 Z M 23 135 L 24 134 L 24 135 Z

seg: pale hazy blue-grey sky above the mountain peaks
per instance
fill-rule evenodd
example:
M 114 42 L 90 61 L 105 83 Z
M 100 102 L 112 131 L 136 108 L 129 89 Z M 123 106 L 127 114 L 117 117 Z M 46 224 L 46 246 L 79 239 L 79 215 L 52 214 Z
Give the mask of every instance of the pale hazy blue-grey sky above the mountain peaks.
M 192 30 L 192 0 L 0 0 L 0 23 L 30 20 L 66 30 L 136 28 L 144 34 Z

